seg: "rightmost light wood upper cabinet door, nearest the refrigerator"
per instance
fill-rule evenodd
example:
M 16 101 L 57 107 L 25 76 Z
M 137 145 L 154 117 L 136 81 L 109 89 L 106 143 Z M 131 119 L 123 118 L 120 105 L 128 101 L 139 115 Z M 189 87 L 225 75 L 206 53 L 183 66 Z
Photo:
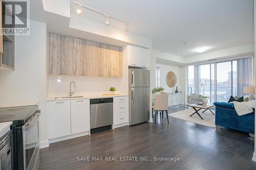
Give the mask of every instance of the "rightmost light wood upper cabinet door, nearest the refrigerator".
M 122 77 L 122 48 L 110 45 L 110 77 Z

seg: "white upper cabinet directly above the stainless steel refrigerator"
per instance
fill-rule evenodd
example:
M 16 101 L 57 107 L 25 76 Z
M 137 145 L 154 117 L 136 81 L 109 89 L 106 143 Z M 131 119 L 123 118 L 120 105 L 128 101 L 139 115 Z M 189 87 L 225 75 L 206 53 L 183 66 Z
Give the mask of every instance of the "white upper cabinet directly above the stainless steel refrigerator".
M 149 67 L 150 55 L 146 48 L 127 45 L 128 65 L 134 67 Z

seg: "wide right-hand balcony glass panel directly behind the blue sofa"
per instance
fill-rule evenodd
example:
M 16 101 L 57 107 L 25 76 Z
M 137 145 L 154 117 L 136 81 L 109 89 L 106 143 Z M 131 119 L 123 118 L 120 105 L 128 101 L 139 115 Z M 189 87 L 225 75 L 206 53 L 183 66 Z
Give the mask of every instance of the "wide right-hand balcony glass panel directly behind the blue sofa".
M 217 101 L 227 102 L 237 95 L 237 61 L 217 63 Z

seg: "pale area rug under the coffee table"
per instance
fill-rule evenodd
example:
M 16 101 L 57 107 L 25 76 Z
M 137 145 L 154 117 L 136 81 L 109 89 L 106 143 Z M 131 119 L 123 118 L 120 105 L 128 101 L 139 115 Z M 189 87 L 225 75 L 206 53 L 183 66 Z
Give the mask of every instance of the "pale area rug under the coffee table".
M 202 110 L 203 111 L 203 110 Z M 168 114 L 169 116 L 176 117 L 182 120 L 186 120 L 188 122 L 193 122 L 195 124 L 208 126 L 211 128 L 215 128 L 215 115 L 212 114 L 209 110 L 205 111 L 204 113 L 201 110 L 198 112 L 204 119 L 201 119 L 197 113 L 193 116 L 189 116 L 195 112 L 194 109 L 186 109 L 182 111 L 178 111 L 175 113 Z

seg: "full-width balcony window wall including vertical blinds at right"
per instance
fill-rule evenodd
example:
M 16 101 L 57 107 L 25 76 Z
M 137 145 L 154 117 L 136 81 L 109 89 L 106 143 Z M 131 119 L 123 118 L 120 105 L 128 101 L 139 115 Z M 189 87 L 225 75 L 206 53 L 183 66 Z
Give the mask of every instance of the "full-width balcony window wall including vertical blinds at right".
M 209 102 L 227 102 L 253 86 L 253 57 L 187 66 L 187 93 L 209 96 Z

